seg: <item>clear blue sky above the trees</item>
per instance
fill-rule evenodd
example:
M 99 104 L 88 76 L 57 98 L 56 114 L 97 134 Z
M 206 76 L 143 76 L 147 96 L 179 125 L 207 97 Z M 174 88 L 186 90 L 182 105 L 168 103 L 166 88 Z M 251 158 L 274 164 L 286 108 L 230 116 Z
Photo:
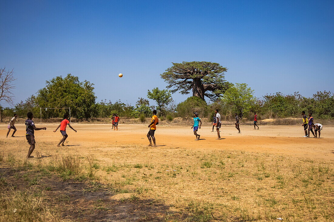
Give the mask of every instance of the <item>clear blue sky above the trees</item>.
M 334 91 L 334 1 L 1 1 L 15 102 L 67 73 L 134 104 L 171 62 L 211 61 L 260 97 Z M 124 77 L 119 78 L 118 74 Z M 173 94 L 176 102 L 188 96 Z

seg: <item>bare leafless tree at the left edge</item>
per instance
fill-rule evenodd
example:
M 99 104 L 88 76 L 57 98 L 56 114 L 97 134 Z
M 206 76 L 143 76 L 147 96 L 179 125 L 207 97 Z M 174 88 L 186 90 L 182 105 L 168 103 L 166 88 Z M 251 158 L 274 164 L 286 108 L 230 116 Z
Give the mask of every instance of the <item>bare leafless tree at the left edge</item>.
M 13 92 L 15 89 L 14 81 L 14 70 L 6 70 L 6 67 L 0 68 L 0 106 L 3 102 L 13 105 Z M 0 109 L 0 122 L 2 122 L 2 107 Z

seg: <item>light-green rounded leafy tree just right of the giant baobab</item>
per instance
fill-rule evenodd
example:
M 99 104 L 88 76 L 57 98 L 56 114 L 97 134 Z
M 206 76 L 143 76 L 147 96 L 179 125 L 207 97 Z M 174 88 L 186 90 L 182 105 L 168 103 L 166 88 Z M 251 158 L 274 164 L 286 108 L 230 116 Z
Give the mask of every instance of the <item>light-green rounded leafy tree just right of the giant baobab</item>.
M 254 90 L 245 83 L 236 83 L 227 89 L 221 97 L 225 105 L 232 106 L 233 110 L 242 117 L 243 113 L 251 111 L 255 106 Z

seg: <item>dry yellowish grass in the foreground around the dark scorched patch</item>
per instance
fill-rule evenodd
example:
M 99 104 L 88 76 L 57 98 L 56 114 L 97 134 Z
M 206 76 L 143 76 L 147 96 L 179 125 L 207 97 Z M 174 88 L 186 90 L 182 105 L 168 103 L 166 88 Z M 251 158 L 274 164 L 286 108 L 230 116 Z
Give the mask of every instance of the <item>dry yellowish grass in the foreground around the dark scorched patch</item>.
M 80 154 L 38 157 L 27 162 L 2 152 L 1 167 L 30 172 L 30 185 L 55 174 L 65 181 L 99 181 L 113 194 L 129 193 L 131 201 L 163 202 L 169 208 L 156 218 L 159 221 L 270 221 L 279 217 L 332 221 L 334 216 L 333 164 L 322 160 L 181 148 L 161 148 L 157 153 L 141 146 L 118 147 L 109 152 L 108 160 Z M 6 177 L 0 181 L 1 221 L 13 216 L 18 221 L 29 221 L 28 217 L 35 218 L 30 221 L 65 220 L 62 207 L 66 205 L 50 205 L 45 192 L 18 189 Z M 108 205 L 101 207 L 110 211 Z

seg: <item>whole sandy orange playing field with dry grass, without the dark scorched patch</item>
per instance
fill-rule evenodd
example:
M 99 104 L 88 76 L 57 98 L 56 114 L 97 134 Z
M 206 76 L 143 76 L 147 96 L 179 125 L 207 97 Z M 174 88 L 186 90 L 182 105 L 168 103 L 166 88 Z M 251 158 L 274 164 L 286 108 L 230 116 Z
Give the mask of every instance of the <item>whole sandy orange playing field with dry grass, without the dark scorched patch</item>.
M 147 125 L 72 124 L 67 146 L 56 147 L 57 124 L 36 124 L 31 163 L 71 156 L 90 164 L 104 184 L 141 200 L 162 201 L 187 221 L 332 221 L 334 127 L 320 139 L 302 138 L 302 126 L 265 125 L 259 130 L 223 126 L 222 139 L 203 126 L 195 141 L 191 126 L 158 126 L 158 147 L 147 147 Z M 23 159 L 25 127 L 1 138 L 5 155 Z M 7 129 L 0 130 L 5 137 Z M 161 214 L 168 221 L 168 214 Z M 174 218 L 175 219 L 175 218 Z M 182 220 L 183 220 L 182 219 Z M 107 220 L 106 220 L 107 221 Z M 136 220 L 134 220 L 136 221 Z M 143 220 L 137 220 L 143 221 Z M 144 220 L 145 221 L 145 220 Z

